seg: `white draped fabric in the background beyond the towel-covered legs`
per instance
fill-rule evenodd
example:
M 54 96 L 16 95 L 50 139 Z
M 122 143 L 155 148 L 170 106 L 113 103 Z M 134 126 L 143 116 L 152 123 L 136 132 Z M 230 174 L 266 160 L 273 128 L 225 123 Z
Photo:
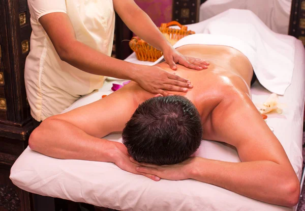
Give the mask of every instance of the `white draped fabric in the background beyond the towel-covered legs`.
M 288 34 L 291 0 L 208 0 L 200 6 L 199 21 L 230 8 L 251 10 L 272 31 Z

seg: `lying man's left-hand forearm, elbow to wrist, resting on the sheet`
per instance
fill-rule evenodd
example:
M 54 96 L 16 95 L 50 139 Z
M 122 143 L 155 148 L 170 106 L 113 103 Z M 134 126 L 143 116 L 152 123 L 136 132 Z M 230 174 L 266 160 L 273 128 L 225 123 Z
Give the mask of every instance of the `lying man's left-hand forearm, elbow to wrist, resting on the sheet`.
M 114 162 L 114 142 L 89 136 L 73 124 L 48 118 L 29 137 L 32 150 L 58 159 Z

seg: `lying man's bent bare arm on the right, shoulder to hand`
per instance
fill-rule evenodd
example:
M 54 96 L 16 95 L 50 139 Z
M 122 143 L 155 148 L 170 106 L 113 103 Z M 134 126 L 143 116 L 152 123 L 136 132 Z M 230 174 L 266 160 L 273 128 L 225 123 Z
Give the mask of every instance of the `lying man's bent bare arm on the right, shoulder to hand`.
M 235 146 L 242 163 L 192 157 L 181 164 L 146 165 L 138 171 L 173 180 L 193 178 L 267 203 L 294 206 L 299 181 L 281 143 L 249 96 L 235 91 L 224 96 L 211 114 L 212 131 L 207 133 Z

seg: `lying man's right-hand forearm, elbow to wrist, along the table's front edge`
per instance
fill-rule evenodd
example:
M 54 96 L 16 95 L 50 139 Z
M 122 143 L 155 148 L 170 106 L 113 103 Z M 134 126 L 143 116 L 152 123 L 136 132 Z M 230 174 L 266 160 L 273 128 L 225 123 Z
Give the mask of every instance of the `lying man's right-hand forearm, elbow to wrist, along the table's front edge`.
M 296 175 L 271 161 L 229 163 L 196 157 L 193 167 L 190 178 L 260 201 L 293 206 L 298 198 L 298 186 L 290 185 L 298 183 Z

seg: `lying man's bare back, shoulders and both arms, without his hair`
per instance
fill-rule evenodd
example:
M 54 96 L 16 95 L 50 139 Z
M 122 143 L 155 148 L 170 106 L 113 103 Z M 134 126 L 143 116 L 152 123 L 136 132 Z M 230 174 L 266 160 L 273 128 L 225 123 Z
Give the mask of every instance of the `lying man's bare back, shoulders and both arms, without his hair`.
M 253 70 L 248 59 L 225 46 L 186 45 L 178 51 L 205 59 L 210 65 L 203 71 L 178 66 L 175 73 L 189 79 L 194 87 L 187 93 L 172 94 L 184 95 L 194 103 L 201 117 L 203 139 L 236 147 L 242 163 L 196 157 L 178 167 L 136 170 L 123 144 L 100 139 L 122 131 L 138 105 L 154 97 L 133 82 L 99 101 L 43 121 L 31 135 L 29 146 L 60 159 L 113 162 L 152 179 L 154 175 L 173 180 L 193 178 L 268 203 L 296 204 L 299 182 L 295 172 L 250 98 Z M 164 63 L 158 66 L 172 71 Z

